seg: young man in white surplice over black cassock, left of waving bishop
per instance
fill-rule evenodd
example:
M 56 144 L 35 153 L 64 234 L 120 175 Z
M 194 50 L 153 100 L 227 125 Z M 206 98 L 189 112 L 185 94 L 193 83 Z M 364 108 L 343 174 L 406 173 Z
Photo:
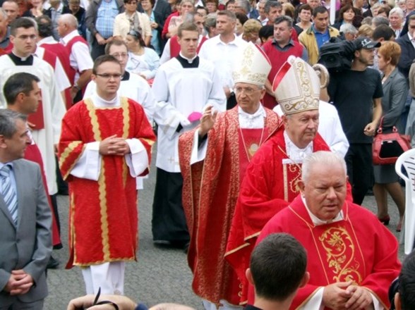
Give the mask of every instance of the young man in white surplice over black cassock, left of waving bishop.
M 186 247 L 189 235 L 181 204 L 179 135 L 195 128 L 208 106 L 224 111 L 226 97 L 215 66 L 196 54 L 198 27 L 183 23 L 178 37 L 179 56 L 160 66 L 152 85 L 157 102 L 154 120 L 159 126 L 152 235 L 156 243 Z

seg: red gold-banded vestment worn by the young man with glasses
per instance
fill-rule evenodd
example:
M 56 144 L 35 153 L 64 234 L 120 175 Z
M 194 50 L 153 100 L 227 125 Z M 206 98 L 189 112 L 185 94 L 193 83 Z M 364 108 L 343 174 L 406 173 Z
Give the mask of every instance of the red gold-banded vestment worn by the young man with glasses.
M 150 163 L 155 135 L 143 108 L 131 99 L 121 98 L 121 106 L 115 108 L 95 108 L 86 99 L 68 110 L 62 120 L 59 167 L 68 180 L 71 207 L 67 268 L 136 259 L 136 178 L 131 177 L 125 157 L 102 156 L 97 181 L 70 175 L 85 143 L 112 135 L 140 140 Z

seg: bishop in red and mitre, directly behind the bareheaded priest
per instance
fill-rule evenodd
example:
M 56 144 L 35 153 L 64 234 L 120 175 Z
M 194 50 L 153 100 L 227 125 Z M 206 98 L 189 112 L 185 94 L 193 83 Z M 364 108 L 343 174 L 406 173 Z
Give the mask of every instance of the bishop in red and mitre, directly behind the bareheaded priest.
M 275 76 L 275 97 L 284 126 L 275 131 L 246 168 L 227 244 L 226 259 L 241 280 L 241 304 L 246 303 L 245 277 L 261 229 L 297 194 L 301 162 L 313 151 L 327 150 L 318 134 L 320 79 L 301 58 L 289 56 Z

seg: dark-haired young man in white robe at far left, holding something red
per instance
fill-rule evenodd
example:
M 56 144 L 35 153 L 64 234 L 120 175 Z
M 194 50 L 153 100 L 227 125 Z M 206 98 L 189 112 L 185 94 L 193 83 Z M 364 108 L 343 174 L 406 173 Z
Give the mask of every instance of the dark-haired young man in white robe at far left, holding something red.
M 32 127 L 32 137 L 42 154 L 49 194 L 56 194 L 55 145 L 61 135 L 61 120 L 66 112 L 64 100 L 56 86 L 54 69 L 46 61 L 32 55 L 36 46 L 35 21 L 18 18 L 11 23 L 11 54 L 0 56 L 0 105 L 6 106 L 3 86 L 14 73 L 26 72 L 39 77 L 42 101 L 37 112 L 28 118 Z

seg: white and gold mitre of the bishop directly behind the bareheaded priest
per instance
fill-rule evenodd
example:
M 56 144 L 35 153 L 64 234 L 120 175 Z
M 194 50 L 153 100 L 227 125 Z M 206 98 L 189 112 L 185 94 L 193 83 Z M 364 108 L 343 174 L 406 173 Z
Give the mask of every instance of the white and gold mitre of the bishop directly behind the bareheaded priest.
M 272 91 L 284 115 L 318 110 L 320 78 L 299 57 L 289 56 L 275 75 Z

